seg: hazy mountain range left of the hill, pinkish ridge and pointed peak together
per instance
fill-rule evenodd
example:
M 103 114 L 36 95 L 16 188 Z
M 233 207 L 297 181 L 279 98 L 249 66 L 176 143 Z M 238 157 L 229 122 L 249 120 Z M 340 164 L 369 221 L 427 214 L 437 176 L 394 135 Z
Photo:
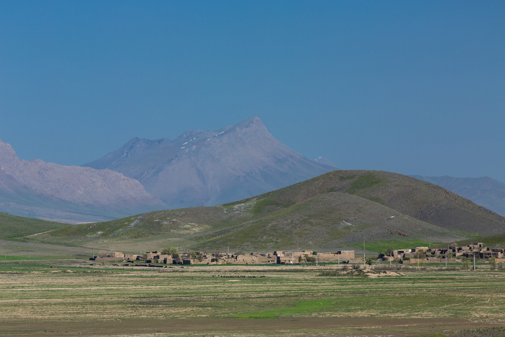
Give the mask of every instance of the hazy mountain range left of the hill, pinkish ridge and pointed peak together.
M 213 206 L 338 169 L 275 139 L 257 117 L 174 140 L 133 138 L 91 163 L 63 166 L 18 158 L 0 140 L 0 211 L 79 223 L 146 211 Z

